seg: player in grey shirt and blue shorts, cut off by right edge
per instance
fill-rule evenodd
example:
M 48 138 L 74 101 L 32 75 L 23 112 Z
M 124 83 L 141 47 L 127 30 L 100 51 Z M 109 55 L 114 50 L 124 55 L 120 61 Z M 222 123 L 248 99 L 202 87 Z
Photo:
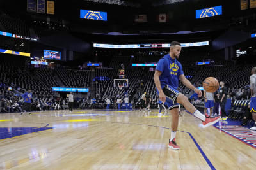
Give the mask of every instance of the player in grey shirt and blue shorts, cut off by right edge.
M 252 68 L 252 76 L 250 76 L 250 89 L 251 89 L 251 102 L 250 102 L 250 112 L 252 113 L 253 120 L 255 121 L 255 126 L 250 129 L 256 131 L 256 67 Z

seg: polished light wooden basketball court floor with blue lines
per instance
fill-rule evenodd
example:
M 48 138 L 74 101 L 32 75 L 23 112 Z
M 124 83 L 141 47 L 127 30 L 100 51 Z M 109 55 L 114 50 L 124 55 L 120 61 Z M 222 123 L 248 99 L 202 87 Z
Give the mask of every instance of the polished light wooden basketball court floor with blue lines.
M 255 169 L 256 150 L 182 111 L 42 111 L 0 115 L 0 169 Z

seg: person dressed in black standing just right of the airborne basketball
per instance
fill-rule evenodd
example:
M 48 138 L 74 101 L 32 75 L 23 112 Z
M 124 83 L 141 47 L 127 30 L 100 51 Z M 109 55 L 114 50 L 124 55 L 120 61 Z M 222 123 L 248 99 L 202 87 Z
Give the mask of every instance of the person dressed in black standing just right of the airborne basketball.
M 221 120 L 227 120 L 227 114 L 225 111 L 225 106 L 227 102 L 227 87 L 225 87 L 224 81 L 220 81 L 220 108 L 221 108 Z

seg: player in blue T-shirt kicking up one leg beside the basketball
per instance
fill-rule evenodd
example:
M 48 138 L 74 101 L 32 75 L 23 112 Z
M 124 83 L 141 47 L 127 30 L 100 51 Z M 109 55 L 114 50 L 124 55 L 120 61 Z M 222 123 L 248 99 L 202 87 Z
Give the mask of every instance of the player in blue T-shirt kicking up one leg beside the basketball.
M 220 120 L 220 117 L 205 118 L 205 115 L 196 110 L 195 106 L 188 101 L 188 97 L 177 90 L 180 80 L 186 87 L 195 91 L 199 97 L 202 96 L 201 90 L 196 89 L 190 81 L 185 78 L 182 71 L 182 65 L 177 60 L 180 57 L 180 52 L 180 43 L 177 41 L 172 42 L 170 45 L 170 52 L 158 61 L 154 74 L 157 94 L 159 95 L 160 100 L 168 106 L 172 115 L 172 132 L 168 147 L 173 150 L 179 150 L 180 148 L 175 140 L 179 124 L 179 103 L 190 113 L 193 113 L 195 117 L 202 120 L 203 127 L 208 127 Z

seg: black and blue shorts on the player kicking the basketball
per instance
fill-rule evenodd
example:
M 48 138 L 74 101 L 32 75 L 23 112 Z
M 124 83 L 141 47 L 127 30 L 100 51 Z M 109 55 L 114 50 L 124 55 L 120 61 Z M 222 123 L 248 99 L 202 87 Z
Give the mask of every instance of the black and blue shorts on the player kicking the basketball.
M 166 101 L 164 104 L 168 107 L 169 110 L 173 108 L 179 108 L 180 104 L 177 103 L 177 97 L 179 95 L 179 91 L 171 87 L 170 85 L 166 85 L 163 87 L 163 92 L 166 96 Z M 159 96 L 159 92 L 157 90 L 157 94 Z

